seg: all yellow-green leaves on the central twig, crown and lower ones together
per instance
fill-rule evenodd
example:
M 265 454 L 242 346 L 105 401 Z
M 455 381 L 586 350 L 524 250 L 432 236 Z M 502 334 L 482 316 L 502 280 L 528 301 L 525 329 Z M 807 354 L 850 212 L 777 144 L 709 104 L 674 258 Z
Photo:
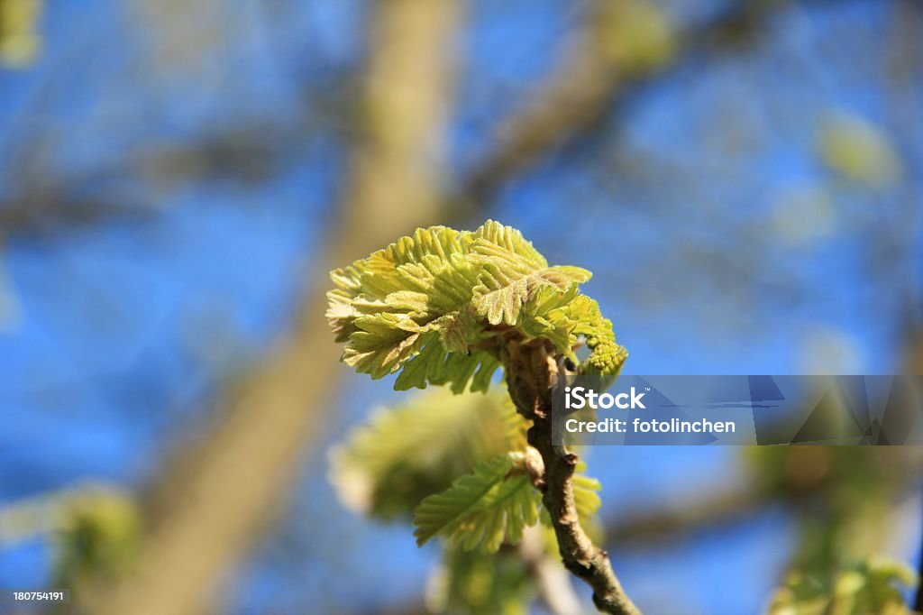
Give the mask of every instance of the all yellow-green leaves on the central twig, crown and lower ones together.
M 397 373 L 397 390 L 448 385 L 379 409 L 334 450 L 340 499 L 384 520 L 413 513 L 421 546 L 443 538 L 439 609 L 521 612 L 533 588 L 500 548 L 540 521 L 545 549 L 557 553 L 557 542 L 533 487 L 541 460 L 529 425 L 506 391 L 488 388 L 509 341 L 545 340 L 578 373 L 617 375 L 627 353 L 581 295 L 590 272 L 549 266 L 519 231 L 487 221 L 473 232 L 419 229 L 331 278 L 327 317 L 343 362 L 375 379 Z M 582 361 L 581 338 L 590 351 Z M 485 395 L 457 394 L 467 391 Z M 577 475 L 573 487 L 592 532 L 599 483 Z

